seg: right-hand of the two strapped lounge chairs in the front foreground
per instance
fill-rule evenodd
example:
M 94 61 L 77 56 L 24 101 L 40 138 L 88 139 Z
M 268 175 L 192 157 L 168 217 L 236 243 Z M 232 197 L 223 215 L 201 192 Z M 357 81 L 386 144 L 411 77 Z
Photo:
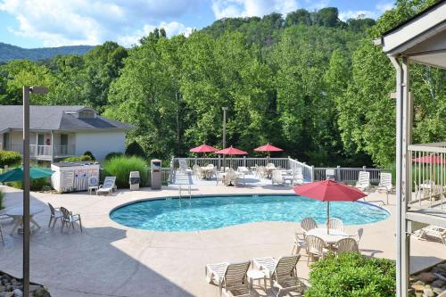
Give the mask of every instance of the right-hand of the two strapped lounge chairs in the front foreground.
M 270 276 L 271 291 L 278 297 L 282 293 L 303 293 L 305 285 L 297 276 L 296 265 L 301 255 L 285 256 L 277 260 Z

